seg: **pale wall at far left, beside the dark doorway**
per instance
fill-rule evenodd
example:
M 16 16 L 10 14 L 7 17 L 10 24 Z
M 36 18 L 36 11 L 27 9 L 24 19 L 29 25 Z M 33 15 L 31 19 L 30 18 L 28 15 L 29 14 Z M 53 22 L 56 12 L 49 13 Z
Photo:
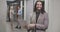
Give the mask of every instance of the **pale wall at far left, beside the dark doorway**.
M 0 0 L 0 32 L 6 32 L 6 0 Z

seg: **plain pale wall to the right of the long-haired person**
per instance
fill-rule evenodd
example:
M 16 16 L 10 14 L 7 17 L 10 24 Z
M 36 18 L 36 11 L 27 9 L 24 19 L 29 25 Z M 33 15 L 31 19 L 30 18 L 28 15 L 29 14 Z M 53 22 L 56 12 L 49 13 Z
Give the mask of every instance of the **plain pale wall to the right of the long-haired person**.
M 47 32 L 60 32 L 60 0 L 49 0 L 49 28 Z

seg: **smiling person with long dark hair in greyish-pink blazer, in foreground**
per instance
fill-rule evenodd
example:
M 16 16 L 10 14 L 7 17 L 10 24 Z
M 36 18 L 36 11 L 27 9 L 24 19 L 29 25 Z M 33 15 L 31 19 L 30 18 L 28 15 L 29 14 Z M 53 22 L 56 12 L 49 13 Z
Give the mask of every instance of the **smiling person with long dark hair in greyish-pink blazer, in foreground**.
M 28 32 L 45 32 L 48 28 L 48 14 L 44 10 L 44 3 L 42 1 L 36 1 L 33 14 L 30 17 L 31 23 L 27 25 Z

